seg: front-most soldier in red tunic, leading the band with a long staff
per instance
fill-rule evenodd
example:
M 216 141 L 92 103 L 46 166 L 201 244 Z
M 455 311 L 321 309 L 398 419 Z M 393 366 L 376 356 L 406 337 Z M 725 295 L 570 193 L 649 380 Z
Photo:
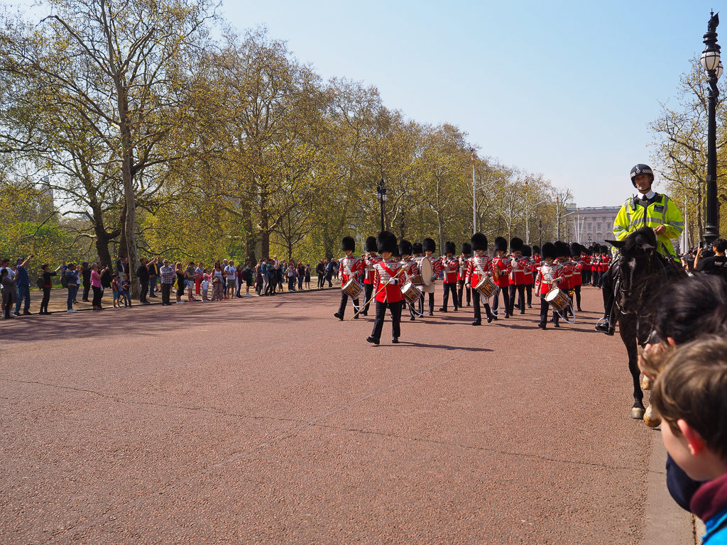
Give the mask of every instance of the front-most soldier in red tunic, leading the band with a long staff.
M 376 273 L 376 319 L 374 320 L 374 331 L 371 336 L 366 337 L 366 342 L 379 344 L 381 339 L 381 331 L 384 328 L 384 318 L 386 309 L 389 309 L 392 322 L 392 339 L 394 344 L 399 342 L 401 336 L 401 283 L 404 268 L 401 262 L 393 259 L 393 254 L 398 253 L 396 244 L 396 235 L 391 231 L 382 231 L 377 237 L 377 249 L 382 256 L 382 261 L 378 262 L 374 271 Z

